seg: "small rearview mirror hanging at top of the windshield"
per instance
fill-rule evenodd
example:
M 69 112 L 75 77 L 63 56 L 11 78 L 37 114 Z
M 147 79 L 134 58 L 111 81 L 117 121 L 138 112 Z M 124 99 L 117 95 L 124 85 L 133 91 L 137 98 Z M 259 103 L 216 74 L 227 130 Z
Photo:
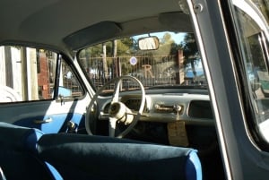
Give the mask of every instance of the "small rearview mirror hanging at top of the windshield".
M 138 39 L 140 50 L 156 50 L 159 48 L 159 39 L 157 37 L 146 37 Z

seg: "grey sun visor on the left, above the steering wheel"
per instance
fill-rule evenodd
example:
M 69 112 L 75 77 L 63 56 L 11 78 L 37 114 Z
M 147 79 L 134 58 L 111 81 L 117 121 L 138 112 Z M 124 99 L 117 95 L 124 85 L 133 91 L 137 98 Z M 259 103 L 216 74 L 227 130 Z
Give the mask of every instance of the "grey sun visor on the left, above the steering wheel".
M 64 42 L 72 50 L 77 50 L 102 40 L 111 39 L 120 32 L 121 28 L 116 22 L 101 21 L 65 37 Z

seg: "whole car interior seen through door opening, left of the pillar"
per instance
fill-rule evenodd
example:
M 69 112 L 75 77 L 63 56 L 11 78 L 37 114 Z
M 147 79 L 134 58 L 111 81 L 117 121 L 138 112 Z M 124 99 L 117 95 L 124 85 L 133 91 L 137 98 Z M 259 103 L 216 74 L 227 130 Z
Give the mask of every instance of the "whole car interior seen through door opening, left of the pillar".
M 225 179 L 184 3 L 15 2 L 0 30 L 1 62 L 22 63 L 0 81 L 0 179 Z

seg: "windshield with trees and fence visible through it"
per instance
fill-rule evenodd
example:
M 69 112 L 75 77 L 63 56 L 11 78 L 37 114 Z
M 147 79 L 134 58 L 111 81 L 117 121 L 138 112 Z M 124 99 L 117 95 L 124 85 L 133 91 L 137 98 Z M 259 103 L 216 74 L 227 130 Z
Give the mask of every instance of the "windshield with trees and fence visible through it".
M 157 49 L 141 50 L 139 39 L 152 36 L 159 39 Z M 161 31 L 109 40 L 82 49 L 79 61 L 96 89 L 124 75 L 142 81 L 146 89 L 206 85 L 193 33 Z M 123 86 L 123 90 L 138 88 L 128 81 Z

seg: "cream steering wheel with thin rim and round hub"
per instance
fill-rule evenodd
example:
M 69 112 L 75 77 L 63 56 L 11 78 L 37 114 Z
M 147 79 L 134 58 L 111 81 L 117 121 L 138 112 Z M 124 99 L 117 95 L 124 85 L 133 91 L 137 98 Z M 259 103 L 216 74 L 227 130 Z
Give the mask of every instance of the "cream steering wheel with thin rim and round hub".
M 132 110 L 126 107 L 126 105 L 123 102 L 120 102 L 119 90 L 121 89 L 123 80 L 135 81 L 140 87 L 142 96 L 141 96 L 141 103 L 140 103 L 138 112 L 132 112 Z M 92 123 L 91 121 L 97 121 L 97 118 L 94 118 L 92 120 L 89 115 L 91 113 L 97 113 L 95 112 L 97 111 L 97 107 L 96 107 L 97 99 L 100 97 L 100 93 L 103 90 L 107 90 L 108 86 L 112 83 L 115 84 L 115 90 L 111 97 L 112 100 L 108 108 L 108 115 L 103 115 L 103 116 L 108 116 L 108 119 L 109 119 L 108 130 L 109 130 L 110 137 L 117 137 L 117 138 L 124 137 L 127 133 L 129 133 L 134 128 L 134 125 L 138 122 L 139 117 L 143 113 L 143 107 L 145 104 L 145 91 L 144 91 L 142 82 L 133 76 L 117 77 L 109 81 L 108 83 L 104 84 L 102 87 L 100 87 L 100 89 L 96 91 L 95 95 L 91 99 L 91 103 L 87 110 L 88 116 L 86 117 L 86 120 L 85 120 L 85 127 L 88 134 L 92 134 L 91 133 L 92 124 L 96 124 L 96 122 Z M 93 107 L 94 105 L 96 108 Z M 122 131 L 121 133 L 117 134 L 116 136 L 115 130 L 117 128 L 117 124 L 126 124 L 126 129 Z

